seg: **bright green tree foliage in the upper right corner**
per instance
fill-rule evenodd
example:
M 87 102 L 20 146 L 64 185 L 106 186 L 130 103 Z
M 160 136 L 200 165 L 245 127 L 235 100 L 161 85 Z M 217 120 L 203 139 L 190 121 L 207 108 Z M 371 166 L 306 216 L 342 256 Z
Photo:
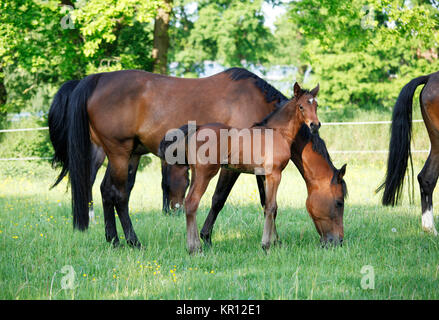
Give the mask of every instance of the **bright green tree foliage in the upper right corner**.
M 438 11 L 411 1 L 303 0 L 290 17 L 305 39 L 301 63 L 313 68 L 329 108 L 390 109 L 410 79 L 439 69 Z

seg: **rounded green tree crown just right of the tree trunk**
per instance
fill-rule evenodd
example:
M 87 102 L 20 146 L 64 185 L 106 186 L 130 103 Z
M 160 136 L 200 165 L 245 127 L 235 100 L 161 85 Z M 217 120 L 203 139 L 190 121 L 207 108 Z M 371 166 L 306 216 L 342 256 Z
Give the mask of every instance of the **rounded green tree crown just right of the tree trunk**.
M 272 35 L 264 26 L 261 0 L 200 0 L 196 5 L 192 16 L 188 16 L 184 6 L 177 6 L 177 14 L 183 19 L 174 22 L 171 32 L 181 38 L 172 40 L 171 56 L 178 62 L 178 74 L 201 73 L 204 61 L 216 61 L 226 67 L 268 61 Z

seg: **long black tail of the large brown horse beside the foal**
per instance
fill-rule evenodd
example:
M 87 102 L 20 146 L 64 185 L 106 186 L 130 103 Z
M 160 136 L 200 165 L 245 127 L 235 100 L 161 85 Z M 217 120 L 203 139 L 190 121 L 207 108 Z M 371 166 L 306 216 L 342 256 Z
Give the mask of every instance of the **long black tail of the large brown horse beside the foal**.
M 72 189 L 73 227 L 88 228 L 91 201 L 91 140 L 87 101 L 96 88 L 100 74 L 82 79 L 72 92 L 67 111 L 68 171 Z

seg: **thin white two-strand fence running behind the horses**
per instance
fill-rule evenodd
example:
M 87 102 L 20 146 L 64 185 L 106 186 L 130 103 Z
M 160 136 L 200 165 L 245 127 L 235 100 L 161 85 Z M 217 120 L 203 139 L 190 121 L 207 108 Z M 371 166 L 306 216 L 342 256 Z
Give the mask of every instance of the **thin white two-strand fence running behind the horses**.
M 424 120 L 413 120 L 412 122 L 423 122 Z M 375 124 L 391 124 L 392 121 L 356 121 L 356 122 L 322 122 L 322 126 L 346 126 L 346 125 L 375 125 Z M 2 129 L 4 132 L 25 132 L 49 130 L 49 127 L 39 128 L 19 128 L 19 129 Z M 331 154 L 370 154 L 370 153 L 388 153 L 388 150 L 329 150 Z M 412 150 L 412 153 L 428 153 L 430 150 Z M 22 158 L 0 158 L 0 161 L 32 161 L 32 160 L 48 160 L 51 157 L 22 157 Z

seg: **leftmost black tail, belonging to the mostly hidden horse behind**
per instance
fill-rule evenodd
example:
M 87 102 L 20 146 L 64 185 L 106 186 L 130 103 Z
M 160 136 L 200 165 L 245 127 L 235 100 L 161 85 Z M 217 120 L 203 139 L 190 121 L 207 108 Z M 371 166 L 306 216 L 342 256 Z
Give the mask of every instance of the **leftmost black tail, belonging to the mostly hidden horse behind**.
M 49 109 L 49 135 L 55 153 L 52 166 L 61 167 L 61 172 L 51 188 L 55 187 L 67 175 L 69 162 L 67 156 L 67 105 L 70 95 L 78 85 L 79 80 L 65 82 L 53 98 Z

